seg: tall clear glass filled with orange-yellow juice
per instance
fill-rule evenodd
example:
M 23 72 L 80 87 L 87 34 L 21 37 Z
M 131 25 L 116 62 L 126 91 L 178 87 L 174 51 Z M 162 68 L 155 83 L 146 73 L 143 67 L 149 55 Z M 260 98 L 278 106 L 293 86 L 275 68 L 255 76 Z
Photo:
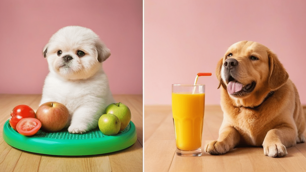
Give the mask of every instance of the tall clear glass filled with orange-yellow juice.
M 201 156 L 205 85 L 172 84 L 176 153 Z

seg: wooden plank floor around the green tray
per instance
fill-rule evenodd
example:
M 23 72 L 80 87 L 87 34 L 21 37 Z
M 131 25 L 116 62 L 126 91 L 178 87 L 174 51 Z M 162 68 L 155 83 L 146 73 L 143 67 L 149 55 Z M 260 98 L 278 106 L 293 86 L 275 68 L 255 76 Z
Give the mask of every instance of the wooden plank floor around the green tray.
M 41 95 L 0 94 L 0 171 L 1 172 L 87 172 L 118 171 L 139 172 L 143 170 L 143 106 L 142 95 L 114 95 L 117 102 L 126 104 L 132 112 L 136 126 L 137 141 L 121 151 L 92 156 L 49 156 L 13 148 L 2 136 L 4 123 L 16 105 L 26 104 L 38 108 Z

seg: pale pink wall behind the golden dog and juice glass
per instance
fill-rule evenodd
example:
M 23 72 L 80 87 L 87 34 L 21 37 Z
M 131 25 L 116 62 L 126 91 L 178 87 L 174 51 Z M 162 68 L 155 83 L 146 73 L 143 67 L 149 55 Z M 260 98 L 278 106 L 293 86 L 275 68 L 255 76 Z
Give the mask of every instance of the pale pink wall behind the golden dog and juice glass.
M 250 40 L 273 50 L 306 104 L 306 1 L 144 1 L 144 104 L 171 104 L 171 84 L 206 84 L 206 104 L 219 104 L 218 60 Z

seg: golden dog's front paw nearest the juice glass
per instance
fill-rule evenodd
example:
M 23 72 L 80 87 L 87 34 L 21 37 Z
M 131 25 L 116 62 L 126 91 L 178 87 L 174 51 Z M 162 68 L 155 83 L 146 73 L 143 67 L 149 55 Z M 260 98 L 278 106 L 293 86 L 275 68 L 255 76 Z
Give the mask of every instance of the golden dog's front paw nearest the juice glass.
M 211 141 L 205 145 L 204 151 L 211 155 L 225 154 L 230 150 L 230 146 L 217 140 Z

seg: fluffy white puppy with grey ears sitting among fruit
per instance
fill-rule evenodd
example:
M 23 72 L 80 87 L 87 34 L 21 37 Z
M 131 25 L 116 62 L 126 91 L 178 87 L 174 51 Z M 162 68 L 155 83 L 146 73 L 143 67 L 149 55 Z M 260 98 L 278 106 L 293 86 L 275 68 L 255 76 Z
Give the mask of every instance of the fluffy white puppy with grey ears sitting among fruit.
M 69 110 L 69 133 L 98 126 L 106 106 L 114 103 L 102 62 L 110 50 L 91 29 L 67 26 L 58 30 L 43 49 L 50 73 L 40 105 L 55 101 Z M 39 105 L 39 106 L 40 106 Z

